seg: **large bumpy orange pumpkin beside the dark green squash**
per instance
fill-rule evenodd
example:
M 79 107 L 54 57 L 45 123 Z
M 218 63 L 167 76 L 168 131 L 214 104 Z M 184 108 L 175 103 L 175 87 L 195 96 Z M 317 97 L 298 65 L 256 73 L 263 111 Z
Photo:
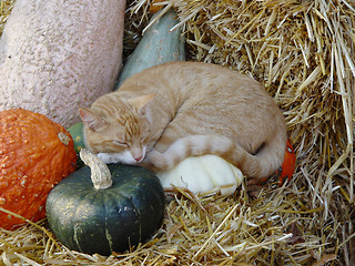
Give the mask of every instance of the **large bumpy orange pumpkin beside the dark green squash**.
M 51 188 L 75 170 L 74 143 L 65 129 L 23 109 L 0 112 L 0 206 L 30 221 L 45 216 Z M 0 227 L 23 221 L 0 211 Z

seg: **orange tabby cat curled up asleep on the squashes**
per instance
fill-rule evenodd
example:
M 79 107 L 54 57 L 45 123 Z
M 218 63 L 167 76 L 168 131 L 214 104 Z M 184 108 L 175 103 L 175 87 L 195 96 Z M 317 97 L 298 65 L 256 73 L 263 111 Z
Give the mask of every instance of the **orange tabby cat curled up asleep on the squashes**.
M 87 147 L 105 163 L 159 171 L 214 154 L 263 178 L 285 154 L 284 116 L 263 86 L 210 63 L 153 66 L 79 113 Z

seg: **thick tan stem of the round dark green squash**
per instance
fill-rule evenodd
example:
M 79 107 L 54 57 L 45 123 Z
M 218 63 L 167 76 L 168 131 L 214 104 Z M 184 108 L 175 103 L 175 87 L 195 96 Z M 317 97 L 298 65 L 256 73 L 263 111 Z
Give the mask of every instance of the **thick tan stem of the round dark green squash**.
M 112 185 L 111 173 L 97 155 L 87 149 L 80 150 L 80 157 L 91 168 L 91 181 L 95 190 L 105 190 Z

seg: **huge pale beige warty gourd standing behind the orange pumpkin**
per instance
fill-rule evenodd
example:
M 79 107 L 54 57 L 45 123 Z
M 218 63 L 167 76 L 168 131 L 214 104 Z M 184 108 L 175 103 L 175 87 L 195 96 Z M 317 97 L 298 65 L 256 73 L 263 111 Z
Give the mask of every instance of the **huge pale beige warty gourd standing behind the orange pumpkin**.
M 17 0 L 0 39 L 0 110 L 23 108 L 70 126 L 113 89 L 125 0 Z

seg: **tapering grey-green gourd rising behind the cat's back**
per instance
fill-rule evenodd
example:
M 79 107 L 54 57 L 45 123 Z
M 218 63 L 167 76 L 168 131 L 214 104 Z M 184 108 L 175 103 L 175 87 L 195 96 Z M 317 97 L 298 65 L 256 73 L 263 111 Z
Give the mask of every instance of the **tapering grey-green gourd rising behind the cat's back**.
M 145 69 L 165 62 L 185 60 L 185 44 L 181 28 L 170 31 L 179 23 L 178 14 L 172 10 L 165 13 L 162 11 L 152 17 L 150 28 L 144 32 L 121 71 L 116 89 L 126 78 Z

